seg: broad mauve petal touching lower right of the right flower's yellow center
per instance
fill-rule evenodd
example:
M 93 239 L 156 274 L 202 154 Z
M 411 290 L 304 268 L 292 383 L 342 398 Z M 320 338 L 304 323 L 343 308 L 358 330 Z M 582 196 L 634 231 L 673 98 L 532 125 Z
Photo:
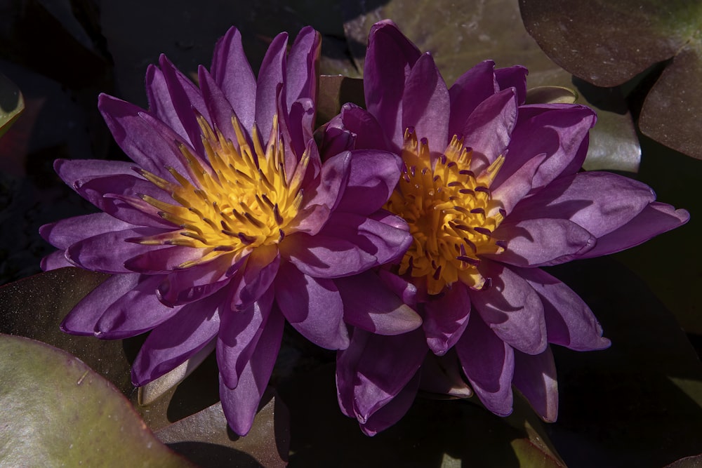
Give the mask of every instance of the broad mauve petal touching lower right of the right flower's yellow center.
M 546 323 L 541 298 L 534 288 L 497 262 L 484 260 L 480 272 L 492 280 L 492 286 L 470 291 L 472 305 L 482 320 L 511 347 L 527 354 L 543 352 L 548 344 Z

